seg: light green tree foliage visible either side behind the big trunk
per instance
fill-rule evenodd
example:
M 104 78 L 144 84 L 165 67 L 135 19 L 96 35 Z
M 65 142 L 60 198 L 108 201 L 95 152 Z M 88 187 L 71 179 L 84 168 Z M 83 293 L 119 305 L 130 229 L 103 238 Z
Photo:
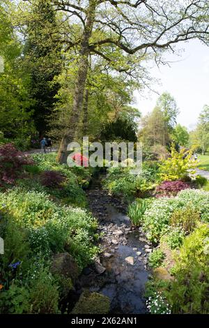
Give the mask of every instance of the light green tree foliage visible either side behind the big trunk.
M 52 129 L 50 133 L 58 139 L 63 131 L 68 131 L 68 117 L 72 110 L 73 85 L 75 80 L 74 62 L 68 64 L 63 73 L 58 77 L 61 89 L 59 90 L 59 102 L 56 111 L 52 115 Z M 92 139 L 98 139 L 101 131 L 108 122 L 118 118 L 129 121 L 134 126 L 139 119 L 139 111 L 132 107 L 132 94 L 136 82 L 125 78 L 125 75 L 111 74 L 102 70 L 100 61 L 96 61 L 88 68 L 84 106 L 79 120 L 78 136 L 88 135 Z

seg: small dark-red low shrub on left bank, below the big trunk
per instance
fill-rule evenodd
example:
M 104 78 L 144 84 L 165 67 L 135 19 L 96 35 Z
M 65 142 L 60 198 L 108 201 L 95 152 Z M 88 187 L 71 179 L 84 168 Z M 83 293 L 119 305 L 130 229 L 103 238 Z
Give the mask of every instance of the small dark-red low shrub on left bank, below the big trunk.
M 61 188 L 65 179 L 59 171 L 45 171 L 40 175 L 41 184 L 49 188 Z

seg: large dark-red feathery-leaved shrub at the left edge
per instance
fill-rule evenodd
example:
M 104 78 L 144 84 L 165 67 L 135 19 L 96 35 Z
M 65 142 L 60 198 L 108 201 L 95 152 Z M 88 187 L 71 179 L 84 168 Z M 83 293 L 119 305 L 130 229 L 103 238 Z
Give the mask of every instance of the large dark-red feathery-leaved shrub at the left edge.
M 28 156 L 17 151 L 13 144 L 4 144 L 0 147 L 0 180 L 6 184 L 15 184 L 20 177 L 24 165 L 32 165 Z

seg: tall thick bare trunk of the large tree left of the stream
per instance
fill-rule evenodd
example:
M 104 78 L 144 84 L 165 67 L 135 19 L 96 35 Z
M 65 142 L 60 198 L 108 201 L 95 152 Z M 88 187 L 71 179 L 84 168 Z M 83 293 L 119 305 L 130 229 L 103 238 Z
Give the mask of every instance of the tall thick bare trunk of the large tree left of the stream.
M 89 39 L 91 38 L 93 30 L 93 22 L 95 19 L 95 7 L 96 1 L 89 0 L 86 24 L 84 27 L 84 32 L 82 36 L 81 48 L 80 48 L 80 59 L 78 64 L 77 79 L 75 82 L 75 94 L 73 97 L 72 104 L 72 114 L 70 117 L 68 131 L 65 131 L 61 144 L 59 147 L 59 152 L 57 155 L 57 161 L 59 163 L 66 163 L 68 158 L 67 147 L 70 142 L 74 140 L 75 132 L 77 131 L 77 126 L 79 124 L 79 117 L 82 112 L 83 102 L 84 102 L 84 89 L 86 85 L 86 77 L 88 73 L 88 56 L 89 50 Z

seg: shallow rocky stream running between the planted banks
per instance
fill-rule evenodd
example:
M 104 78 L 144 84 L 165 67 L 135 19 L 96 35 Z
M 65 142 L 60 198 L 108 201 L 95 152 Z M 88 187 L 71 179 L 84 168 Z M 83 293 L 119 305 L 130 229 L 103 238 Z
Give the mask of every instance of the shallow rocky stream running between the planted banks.
M 102 190 L 100 179 L 93 181 L 86 194 L 98 219 L 98 232 L 102 232 L 102 253 L 98 267 L 83 270 L 75 286 L 77 295 L 88 289 L 108 296 L 111 314 L 147 313 L 144 288 L 150 276 L 146 264 L 151 246 L 140 228 L 132 228 L 125 204 Z

